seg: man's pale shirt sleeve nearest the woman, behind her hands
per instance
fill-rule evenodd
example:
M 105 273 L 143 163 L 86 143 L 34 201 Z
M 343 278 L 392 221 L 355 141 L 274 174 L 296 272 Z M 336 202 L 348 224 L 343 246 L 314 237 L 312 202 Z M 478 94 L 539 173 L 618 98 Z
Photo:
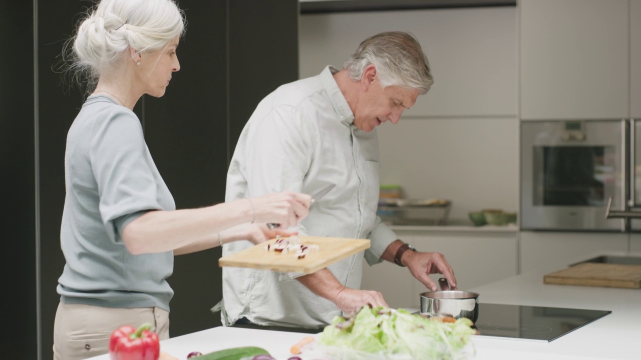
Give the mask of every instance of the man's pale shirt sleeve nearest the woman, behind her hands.
M 247 183 L 249 197 L 274 192 L 301 192 L 313 154 L 311 129 L 299 111 L 292 106 L 276 106 L 260 120 L 248 138 L 246 147 Z M 292 230 L 308 234 L 304 225 Z M 288 281 L 301 273 L 281 273 L 279 279 Z

